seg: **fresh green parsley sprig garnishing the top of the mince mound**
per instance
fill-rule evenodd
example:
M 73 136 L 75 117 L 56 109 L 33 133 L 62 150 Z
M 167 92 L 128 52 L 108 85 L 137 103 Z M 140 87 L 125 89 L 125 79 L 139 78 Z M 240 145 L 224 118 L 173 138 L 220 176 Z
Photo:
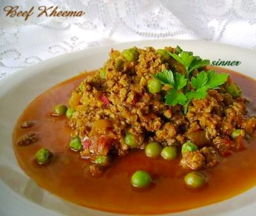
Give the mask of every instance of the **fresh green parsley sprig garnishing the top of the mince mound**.
M 152 76 L 164 85 L 170 86 L 164 96 L 165 103 L 168 105 L 184 105 L 184 113 L 188 112 L 188 106 L 193 99 L 203 99 L 207 95 L 208 89 L 218 89 L 220 85 L 228 79 L 227 73 L 215 73 L 214 70 L 202 71 L 196 77 L 189 77 L 189 73 L 196 68 L 209 65 L 209 60 L 203 60 L 198 56 L 193 56 L 193 52 L 186 52 L 177 46 L 179 55 L 170 53 L 175 60 L 184 65 L 186 77 L 182 73 L 163 70 Z

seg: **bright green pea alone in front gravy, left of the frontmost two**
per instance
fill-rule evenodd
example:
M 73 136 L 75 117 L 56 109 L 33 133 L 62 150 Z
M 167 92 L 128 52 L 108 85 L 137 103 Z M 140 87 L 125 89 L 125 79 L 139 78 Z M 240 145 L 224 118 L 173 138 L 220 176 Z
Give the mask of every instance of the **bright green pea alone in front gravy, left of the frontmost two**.
M 145 171 L 136 171 L 132 174 L 131 183 L 134 187 L 143 188 L 150 185 L 152 179 L 150 174 Z

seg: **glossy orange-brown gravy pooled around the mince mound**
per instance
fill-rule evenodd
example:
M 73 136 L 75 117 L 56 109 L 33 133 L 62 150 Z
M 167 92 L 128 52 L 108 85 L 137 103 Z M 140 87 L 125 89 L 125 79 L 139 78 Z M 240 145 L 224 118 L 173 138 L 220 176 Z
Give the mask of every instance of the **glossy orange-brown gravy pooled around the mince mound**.
M 240 73 L 228 72 L 241 86 L 243 94 L 255 113 L 256 81 Z M 204 171 L 207 186 L 190 190 L 184 185 L 186 172 L 179 167 L 179 159 L 166 161 L 162 158 L 147 158 L 142 150 L 134 151 L 114 160 L 111 167 L 99 178 L 87 173 L 88 162 L 79 153 L 68 150 L 70 129 L 66 118 L 50 116 L 56 104 L 67 104 L 72 89 L 88 75 L 86 73 L 62 82 L 38 96 L 22 113 L 13 132 L 13 148 L 20 167 L 36 183 L 53 194 L 73 203 L 98 210 L 127 213 L 154 214 L 188 210 L 210 203 L 223 201 L 252 188 L 256 184 L 256 140 L 252 139 L 246 150 L 220 158 L 214 169 Z M 253 110 L 254 109 L 254 110 Z M 24 121 L 33 121 L 31 128 L 20 129 Z M 29 146 L 17 146 L 22 135 L 36 132 L 39 140 Z M 48 148 L 54 157 L 47 166 L 38 166 L 35 153 Z M 147 189 L 134 189 L 131 175 L 142 169 L 152 174 L 154 183 Z

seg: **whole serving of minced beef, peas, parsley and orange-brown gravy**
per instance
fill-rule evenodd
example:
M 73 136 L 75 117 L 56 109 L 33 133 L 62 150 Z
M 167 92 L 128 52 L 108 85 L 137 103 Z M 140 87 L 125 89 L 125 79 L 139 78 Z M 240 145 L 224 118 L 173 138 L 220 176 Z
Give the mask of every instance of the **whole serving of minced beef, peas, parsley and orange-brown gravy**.
M 111 50 L 38 96 L 13 133 L 41 187 L 108 212 L 167 213 L 256 183 L 256 82 L 165 47 Z

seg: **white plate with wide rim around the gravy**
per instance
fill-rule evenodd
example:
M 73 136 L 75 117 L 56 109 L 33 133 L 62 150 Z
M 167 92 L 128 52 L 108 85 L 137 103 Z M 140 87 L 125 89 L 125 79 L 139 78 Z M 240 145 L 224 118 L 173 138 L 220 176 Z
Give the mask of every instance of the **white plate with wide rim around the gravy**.
M 108 59 L 111 47 L 123 50 L 134 45 L 155 48 L 180 45 L 184 50 L 191 50 L 211 61 L 241 61 L 240 65 L 227 68 L 256 78 L 255 51 L 221 43 L 184 40 L 129 42 L 86 49 L 43 61 L 9 75 L 0 81 L 0 215 L 113 215 L 63 201 L 40 189 L 17 164 L 12 148 L 12 130 L 21 112 L 35 96 L 79 72 L 101 67 Z M 172 215 L 255 215 L 255 195 L 256 187 L 221 203 Z

